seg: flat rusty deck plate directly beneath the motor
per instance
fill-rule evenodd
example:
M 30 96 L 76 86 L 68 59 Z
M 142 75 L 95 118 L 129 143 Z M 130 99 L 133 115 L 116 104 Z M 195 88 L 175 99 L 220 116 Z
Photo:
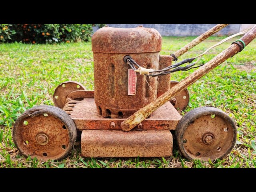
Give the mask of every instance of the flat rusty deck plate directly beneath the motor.
M 82 101 L 70 101 L 67 104 L 72 107 L 65 108 L 76 124 L 78 130 L 101 129 L 121 130 L 121 122 L 125 119 L 104 118 L 98 114 L 94 98 L 84 98 Z M 181 116 L 170 102 L 153 112 L 136 129 L 142 130 L 175 130 Z M 111 126 L 110 126 L 111 124 Z

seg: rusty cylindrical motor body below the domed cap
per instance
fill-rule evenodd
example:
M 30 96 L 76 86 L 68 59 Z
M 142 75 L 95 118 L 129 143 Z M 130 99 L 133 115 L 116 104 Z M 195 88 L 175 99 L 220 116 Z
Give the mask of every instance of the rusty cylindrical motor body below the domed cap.
M 147 68 L 158 70 L 159 52 L 129 55 Z M 124 64 L 124 56 L 94 52 L 95 102 L 104 117 L 118 118 L 118 112 L 122 112 L 123 118 L 127 118 L 156 99 L 157 77 L 149 79 L 139 74 L 136 94 L 128 95 L 129 66 Z

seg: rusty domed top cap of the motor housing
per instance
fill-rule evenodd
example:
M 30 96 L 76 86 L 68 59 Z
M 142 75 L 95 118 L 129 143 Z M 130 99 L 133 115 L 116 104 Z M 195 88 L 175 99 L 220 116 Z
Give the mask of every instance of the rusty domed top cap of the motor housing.
M 92 51 L 100 53 L 160 52 L 162 36 L 152 28 L 103 27 L 92 36 Z

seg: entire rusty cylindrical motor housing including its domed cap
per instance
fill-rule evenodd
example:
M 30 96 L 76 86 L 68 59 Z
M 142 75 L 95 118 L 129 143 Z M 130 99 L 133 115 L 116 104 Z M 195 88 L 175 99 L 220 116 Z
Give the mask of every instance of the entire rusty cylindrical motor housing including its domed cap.
M 142 75 L 137 75 L 136 94 L 128 95 L 130 66 L 124 57 L 130 55 L 144 68 L 158 70 L 161 46 L 162 37 L 152 28 L 103 27 L 94 33 L 94 90 L 99 114 L 127 118 L 157 98 L 158 77 Z M 170 84 L 170 76 L 166 84 Z

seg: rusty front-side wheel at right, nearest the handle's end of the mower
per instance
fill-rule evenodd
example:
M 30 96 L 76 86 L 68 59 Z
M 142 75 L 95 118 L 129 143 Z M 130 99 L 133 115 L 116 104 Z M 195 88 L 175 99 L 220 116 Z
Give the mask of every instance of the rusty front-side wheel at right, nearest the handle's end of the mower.
M 188 160 L 225 158 L 236 144 L 236 124 L 222 110 L 199 107 L 185 114 L 176 128 L 176 141 Z

